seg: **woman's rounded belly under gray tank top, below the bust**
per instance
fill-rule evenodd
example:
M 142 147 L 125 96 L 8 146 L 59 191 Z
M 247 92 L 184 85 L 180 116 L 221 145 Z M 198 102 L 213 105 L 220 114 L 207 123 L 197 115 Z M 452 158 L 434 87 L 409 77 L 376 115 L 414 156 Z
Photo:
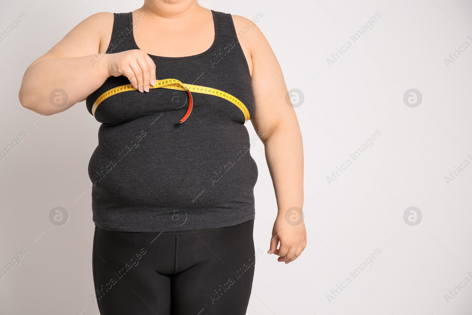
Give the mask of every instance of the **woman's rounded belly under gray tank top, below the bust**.
M 244 125 L 218 115 L 192 115 L 183 124 L 157 114 L 102 124 L 88 166 L 95 207 L 189 209 L 253 203 L 257 166 Z

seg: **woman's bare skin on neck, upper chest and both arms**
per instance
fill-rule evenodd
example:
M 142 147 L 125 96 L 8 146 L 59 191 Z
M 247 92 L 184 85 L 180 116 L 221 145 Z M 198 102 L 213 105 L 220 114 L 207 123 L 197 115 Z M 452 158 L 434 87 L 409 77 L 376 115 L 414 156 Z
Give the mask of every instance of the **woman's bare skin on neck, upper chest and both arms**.
M 84 101 L 110 76 L 126 76 L 142 93 L 147 93 L 149 85 L 155 85 L 156 80 L 155 64 L 148 53 L 191 56 L 206 51 L 213 42 L 211 11 L 202 8 L 196 0 L 145 0 L 142 8 L 133 11 L 133 18 L 143 14 L 145 17 L 134 30 L 140 50 L 114 54 L 105 53 L 110 43 L 113 13 L 96 13 L 80 22 L 25 71 L 18 93 L 22 106 L 41 115 L 65 111 Z M 262 135 L 277 199 L 278 213 L 268 253 L 278 255 L 279 262 L 288 264 L 306 247 L 304 222 L 293 226 L 286 221 L 289 208 L 303 209 L 302 135 L 295 110 L 285 101 L 287 86 L 269 43 L 253 21 L 232 17 L 236 33 L 249 29 L 238 39 L 252 77 L 256 109 L 251 121 L 256 133 Z M 173 32 L 157 32 L 159 29 Z M 189 29 L 200 32 L 188 32 Z M 174 41 L 176 34 L 181 41 Z M 64 89 L 69 97 L 62 108 L 49 102 L 49 95 L 56 88 Z

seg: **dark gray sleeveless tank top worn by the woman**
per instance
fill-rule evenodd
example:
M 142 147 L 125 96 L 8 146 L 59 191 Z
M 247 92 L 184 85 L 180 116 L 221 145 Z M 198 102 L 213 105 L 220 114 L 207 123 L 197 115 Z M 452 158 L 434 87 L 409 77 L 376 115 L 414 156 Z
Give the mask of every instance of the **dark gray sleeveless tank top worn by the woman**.
M 211 10 L 215 38 L 198 55 L 160 57 L 157 80 L 224 91 L 254 115 L 249 67 L 230 14 Z M 135 27 L 138 24 L 135 23 Z M 169 30 L 171 31 L 171 30 Z M 197 30 L 189 30 L 197 32 Z M 179 41 L 176 34 L 175 41 Z M 107 53 L 139 49 L 132 13 L 114 13 Z M 129 84 L 109 77 L 86 99 L 92 114 L 104 92 Z M 250 154 L 244 114 L 227 99 L 165 88 L 126 91 L 103 100 L 94 117 L 101 122 L 98 145 L 88 165 L 92 210 L 104 230 L 158 232 L 215 229 L 254 219 L 258 171 Z

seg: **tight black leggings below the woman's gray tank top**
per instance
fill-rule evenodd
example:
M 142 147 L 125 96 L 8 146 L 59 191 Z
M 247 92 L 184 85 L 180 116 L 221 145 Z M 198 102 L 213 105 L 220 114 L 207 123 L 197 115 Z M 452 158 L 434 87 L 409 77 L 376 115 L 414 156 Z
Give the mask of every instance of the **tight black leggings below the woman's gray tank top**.
M 93 282 L 101 315 L 246 314 L 254 220 L 208 230 L 117 232 L 95 227 Z

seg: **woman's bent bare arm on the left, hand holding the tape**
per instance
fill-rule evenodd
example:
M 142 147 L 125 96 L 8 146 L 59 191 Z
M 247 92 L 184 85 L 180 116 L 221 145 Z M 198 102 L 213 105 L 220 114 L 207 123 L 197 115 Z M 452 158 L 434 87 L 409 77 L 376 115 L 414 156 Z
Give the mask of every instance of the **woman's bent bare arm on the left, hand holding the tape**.
M 84 101 L 111 76 L 126 76 L 148 92 L 156 80 L 154 62 L 142 50 L 106 54 L 112 28 L 110 12 L 96 13 L 74 27 L 26 69 L 18 93 L 21 105 L 41 115 L 56 114 Z M 67 95 L 55 94 L 57 89 Z M 67 104 L 60 102 L 61 96 L 68 98 Z

